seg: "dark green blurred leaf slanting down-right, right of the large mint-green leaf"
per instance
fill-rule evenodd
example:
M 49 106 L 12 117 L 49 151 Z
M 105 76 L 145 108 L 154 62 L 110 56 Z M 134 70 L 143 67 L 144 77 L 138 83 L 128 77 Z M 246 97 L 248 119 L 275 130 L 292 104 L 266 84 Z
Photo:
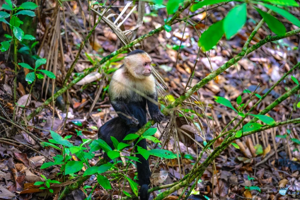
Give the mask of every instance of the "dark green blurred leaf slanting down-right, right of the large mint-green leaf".
M 265 22 L 268 24 L 268 27 L 276 33 L 277 35 L 284 35 L 286 33 L 286 29 L 284 25 L 276 19 L 274 16 L 260 10 L 259 8 L 255 8 L 257 12 L 262 16 L 262 18 L 265 20 Z

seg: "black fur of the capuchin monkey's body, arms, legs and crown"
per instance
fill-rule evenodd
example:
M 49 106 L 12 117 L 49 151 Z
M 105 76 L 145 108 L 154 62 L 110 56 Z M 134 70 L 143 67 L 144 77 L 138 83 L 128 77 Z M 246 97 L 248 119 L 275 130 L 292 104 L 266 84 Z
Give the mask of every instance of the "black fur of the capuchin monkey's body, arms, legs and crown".
M 128 54 L 129 56 L 136 55 L 136 54 L 146 54 L 146 52 L 141 50 L 135 50 Z M 147 54 L 148 56 L 148 54 Z M 149 57 L 149 56 L 148 56 Z M 130 58 L 130 57 L 129 57 Z M 134 57 L 136 58 L 136 57 Z M 150 57 L 149 57 L 150 58 Z M 124 70 L 124 67 L 130 67 L 126 66 L 125 64 L 121 67 Z M 116 73 L 116 72 L 115 72 Z M 152 76 L 152 75 L 151 75 Z M 114 79 L 111 81 L 111 85 Z M 120 79 L 122 82 L 122 80 Z M 126 81 L 123 81 L 126 87 Z M 153 82 L 154 83 L 154 82 Z M 151 84 L 153 84 L 151 82 Z M 155 84 L 155 83 L 154 83 Z M 111 86 L 110 85 L 110 86 Z M 119 86 L 122 87 L 122 86 Z M 155 85 L 154 85 L 155 88 Z M 124 88 L 125 89 L 125 88 Z M 110 136 L 115 137 L 119 142 L 122 142 L 122 140 L 125 138 L 126 135 L 129 133 L 135 133 L 137 132 L 144 124 L 147 122 L 147 109 L 148 106 L 149 114 L 151 118 L 156 122 L 161 122 L 164 118 L 164 116 L 161 114 L 158 106 L 155 103 L 152 103 L 151 101 L 147 100 L 143 96 L 137 94 L 134 91 L 130 91 L 130 95 L 128 96 L 118 96 L 113 95 L 116 90 L 112 87 L 109 89 L 109 97 L 110 97 L 110 103 L 112 104 L 115 111 L 118 113 L 119 117 L 113 118 L 107 123 L 105 123 L 103 126 L 100 127 L 98 132 L 98 137 L 111 147 L 113 147 L 113 142 L 111 141 Z M 152 89 L 152 91 L 144 91 L 146 93 L 145 95 L 152 100 L 155 100 L 157 102 L 157 92 L 156 89 Z M 124 141 L 126 143 L 126 141 Z M 147 149 L 146 140 L 141 140 L 138 144 L 138 146 Z M 137 148 L 135 149 L 137 152 Z M 149 184 L 150 184 L 150 176 L 151 171 L 149 168 L 149 161 L 146 160 L 141 154 L 136 154 L 136 156 L 139 158 L 139 162 L 137 162 L 137 172 L 138 172 L 138 179 L 139 179 L 139 185 L 141 186 L 140 189 L 140 199 L 141 200 L 148 200 L 149 194 Z

